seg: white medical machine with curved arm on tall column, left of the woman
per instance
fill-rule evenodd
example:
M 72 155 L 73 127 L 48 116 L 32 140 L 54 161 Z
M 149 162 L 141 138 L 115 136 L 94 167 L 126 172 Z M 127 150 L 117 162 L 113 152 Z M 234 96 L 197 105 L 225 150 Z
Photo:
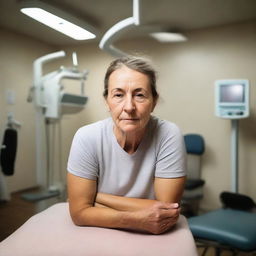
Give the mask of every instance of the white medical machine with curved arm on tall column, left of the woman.
M 59 177 L 56 177 L 54 166 L 58 162 L 54 158 L 56 129 L 59 128 L 60 143 L 62 115 L 80 112 L 88 100 L 84 95 L 84 81 L 88 72 L 78 70 L 75 53 L 73 53 L 73 67 L 61 67 L 59 70 L 43 75 L 44 64 L 64 56 L 65 52 L 59 51 L 42 56 L 33 63 L 34 85 L 30 89 L 28 101 L 33 101 L 36 109 L 36 174 L 37 184 L 44 188 L 44 191 L 24 194 L 23 198 L 30 201 L 56 196 L 63 191 L 61 163 L 59 163 Z M 66 92 L 62 83 L 64 79 L 79 81 L 80 92 L 77 94 Z M 58 146 L 58 157 L 61 158 L 61 145 Z

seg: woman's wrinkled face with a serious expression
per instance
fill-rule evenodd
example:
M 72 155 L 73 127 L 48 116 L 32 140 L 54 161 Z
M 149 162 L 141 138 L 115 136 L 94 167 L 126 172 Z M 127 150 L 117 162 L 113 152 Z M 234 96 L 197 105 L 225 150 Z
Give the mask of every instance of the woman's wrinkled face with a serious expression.
M 156 104 L 148 77 L 126 66 L 110 75 L 106 102 L 115 128 L 126 134 L 142 132 Z

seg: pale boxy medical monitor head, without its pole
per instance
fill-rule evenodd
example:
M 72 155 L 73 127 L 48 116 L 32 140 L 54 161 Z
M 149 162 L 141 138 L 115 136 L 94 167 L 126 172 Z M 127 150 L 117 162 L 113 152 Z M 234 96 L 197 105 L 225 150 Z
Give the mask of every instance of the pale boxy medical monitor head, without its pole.
M 215 114 L 221 118 L 240 119 L 249 116 L 249 81 L 217 80 Z

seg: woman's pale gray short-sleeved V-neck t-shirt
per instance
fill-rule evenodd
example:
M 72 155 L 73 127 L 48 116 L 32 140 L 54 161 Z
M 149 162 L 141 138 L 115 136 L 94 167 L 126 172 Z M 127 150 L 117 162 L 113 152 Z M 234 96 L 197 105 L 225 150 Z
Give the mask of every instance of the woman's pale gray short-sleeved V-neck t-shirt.
M 154 178 L 186 175 L 184 139 L 179 128 L 151 117 L 133 154 L 118 144 L 111 118 L 80 128 L 73 139 L 68 171 L 97 180 L 98 192 L 154 199 Z

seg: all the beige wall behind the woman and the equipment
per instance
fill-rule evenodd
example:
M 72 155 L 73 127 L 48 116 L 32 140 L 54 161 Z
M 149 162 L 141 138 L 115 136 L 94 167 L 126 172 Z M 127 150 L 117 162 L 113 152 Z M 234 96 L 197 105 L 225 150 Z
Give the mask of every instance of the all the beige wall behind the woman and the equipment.
M 202 206 L 219 206 L 219 193 L 230 189 L 230 121 L 214 116 L 214 81 L 224 78 L 247 78 L 251 82 L 251 117 L 240 121 L 240 192 L 256 198 L 256 119 L 255 66 L 256 23 L 240 24 L 188 34 L 189 41 L 179 44 L 160 44 L 149 38 L 119 42 L 122 49 L 135 50 L 152 57 L 159 71 L 158 88 L 161 95 L 155 114 L 177 123 L 184 133 L 200 133 L 206 140 L 203 157 L 203 178 L 206 180 Z M 32 82 L 32 62 L 35 58 L 56 49 L 31 38 L 0 31 L 0 124 L 8 111 L 22 122 L 16 173 L 9 178 L 11 190 L 35 184 L 34 116 L 32 104 L 26 103 Z M 103 76 L 112 57 L 93 43 L 64 47 L 70 56 L 78 53 L 79 67 L 88 69 L 86 94 L 89 102 L 77 115 L 65 116 L 62 129 L 62 170 L 65 173 L 67 155 L 76 129 L 83 124 L 108 116 L 102 99 Z M 49 65 L 71 65 L 65 58 Z M 5 90 L 16 92 L 16 104 L 6 105 Z M 23 178 L 25 177 L 25 178 Z

